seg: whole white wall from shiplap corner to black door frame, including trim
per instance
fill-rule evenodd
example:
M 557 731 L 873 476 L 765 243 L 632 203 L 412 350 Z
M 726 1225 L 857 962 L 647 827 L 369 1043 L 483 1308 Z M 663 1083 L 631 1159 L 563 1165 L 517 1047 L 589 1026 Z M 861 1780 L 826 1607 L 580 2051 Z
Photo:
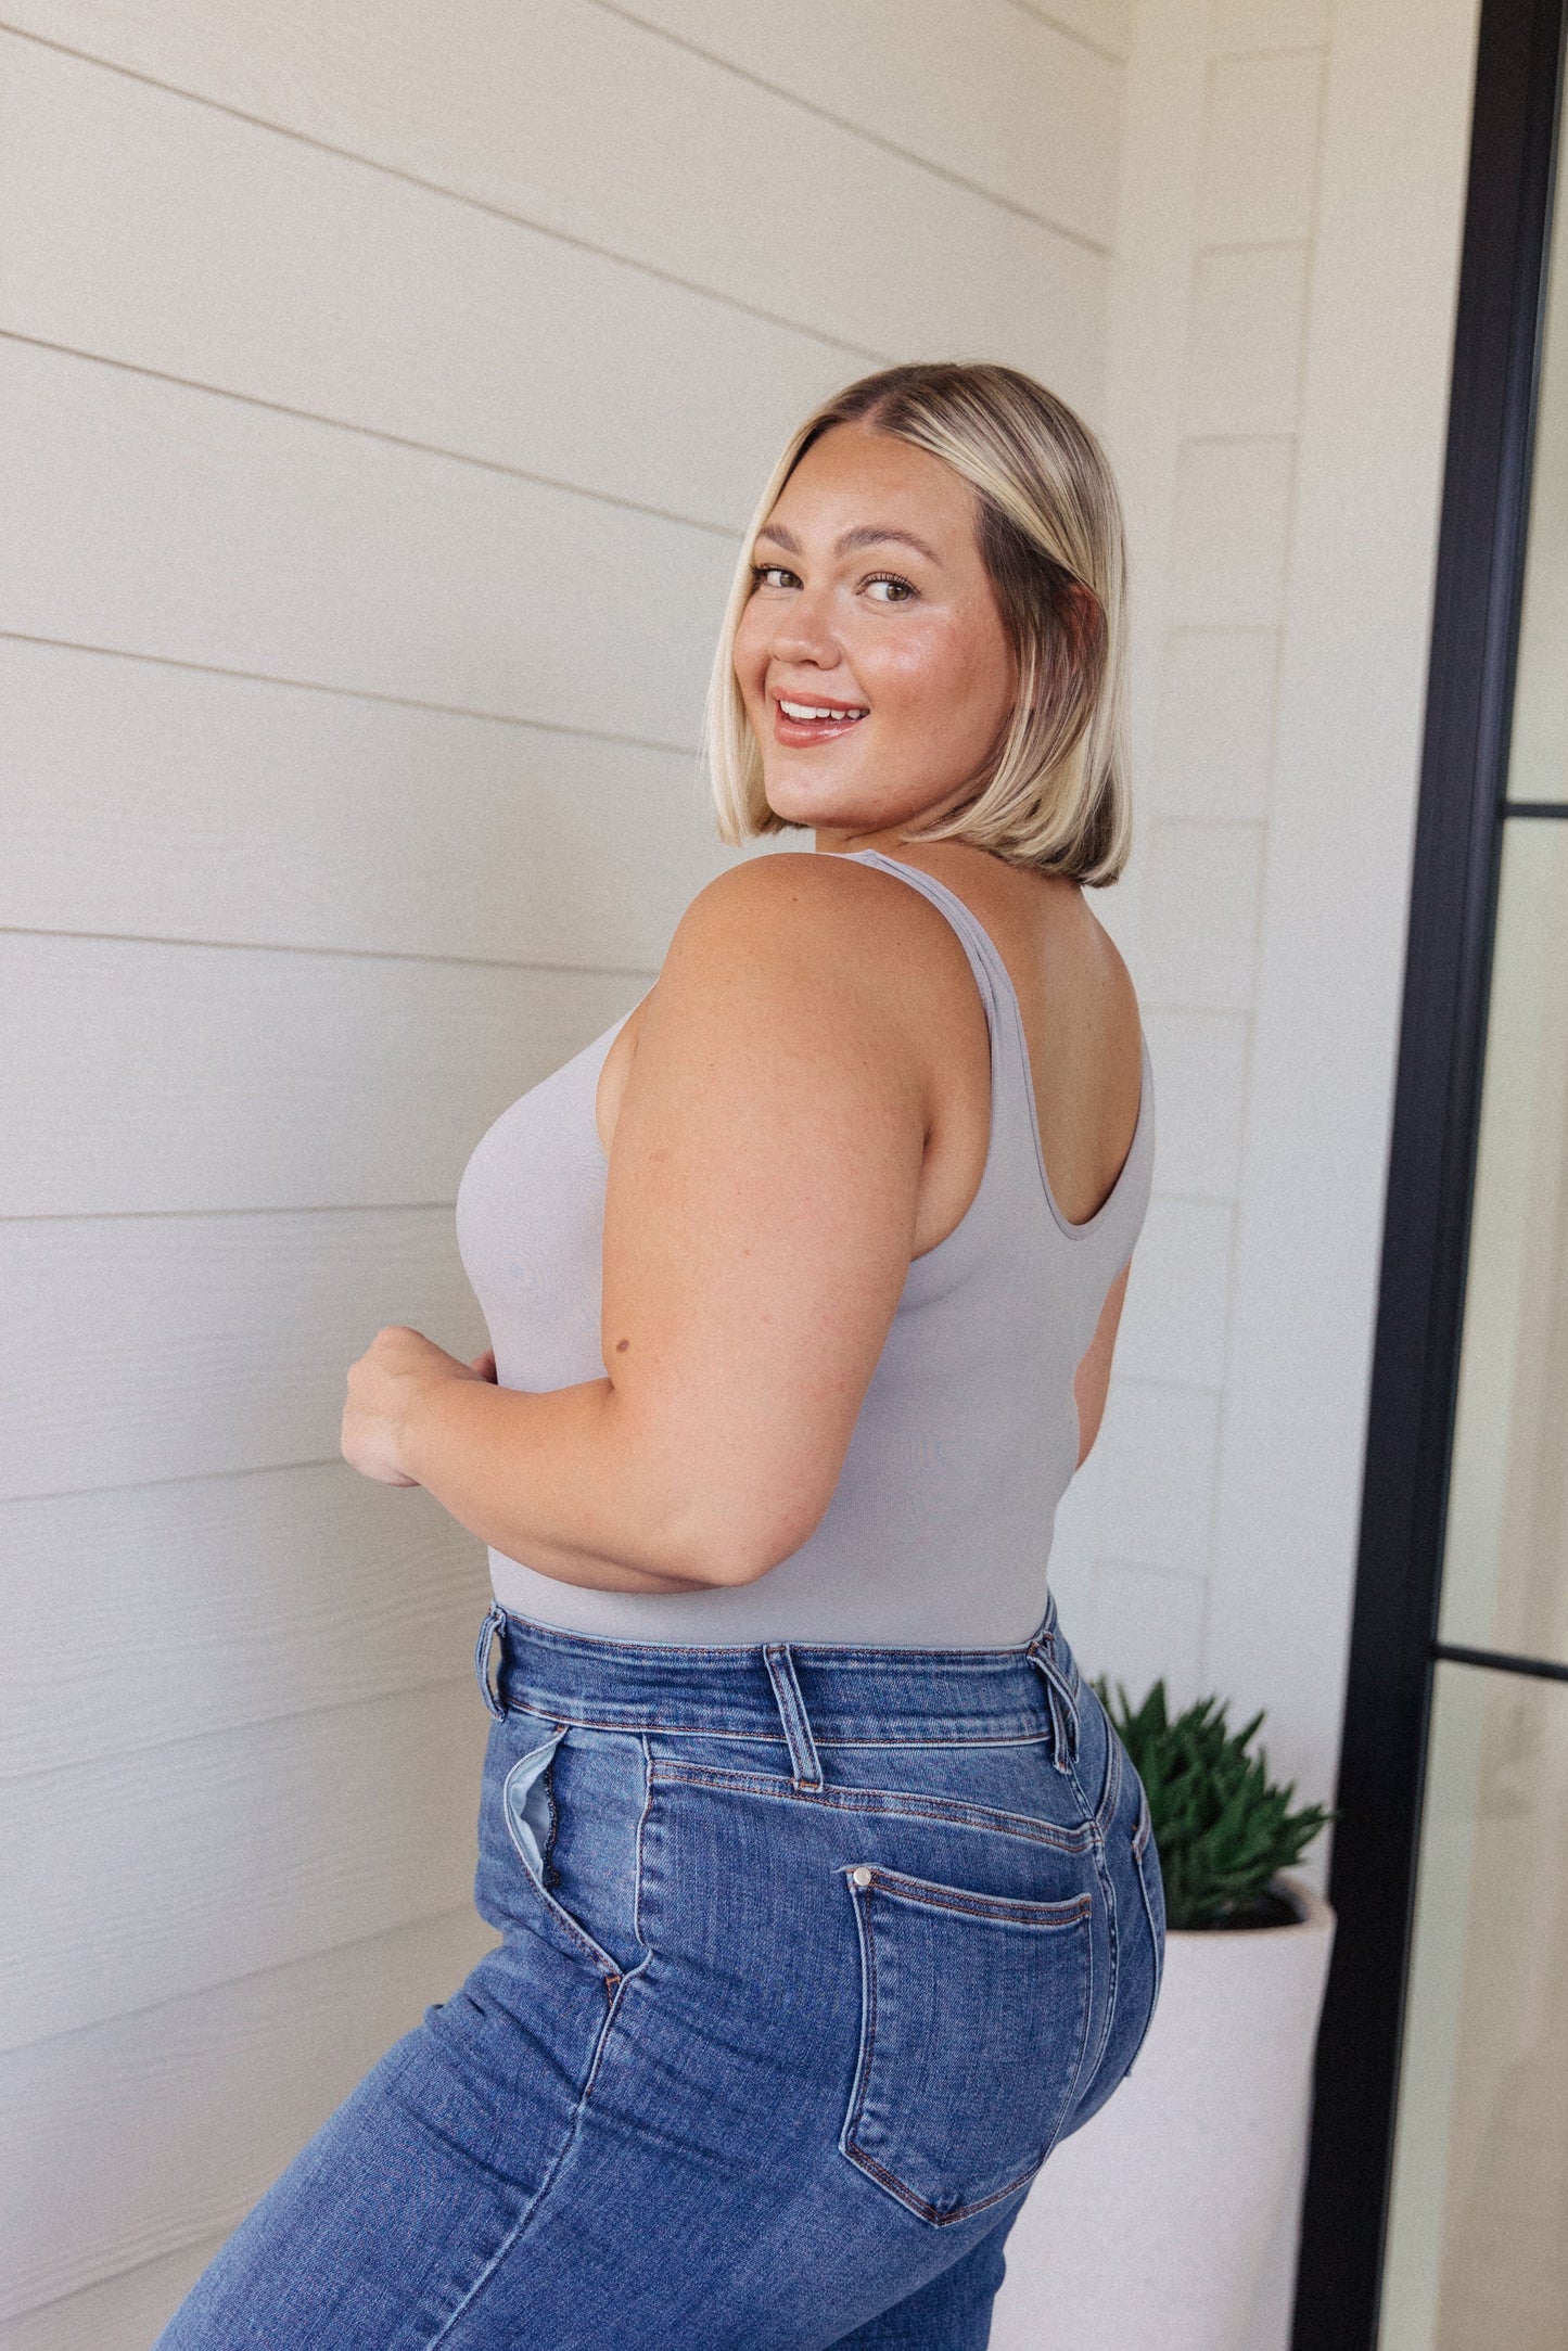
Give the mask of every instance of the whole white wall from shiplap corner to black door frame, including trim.
M 1138 0 L 1128 54 L 1105 433 L 1143 830 L 1107 912 L 1161 1140 L 1053 1575 L 1086 1660 L 1267 1709 L 1272 1770 L 1328 1801 L 1474 38 L 1474 0 Z M 1295 2212 L 1246 2351 L 1291 2339 Z

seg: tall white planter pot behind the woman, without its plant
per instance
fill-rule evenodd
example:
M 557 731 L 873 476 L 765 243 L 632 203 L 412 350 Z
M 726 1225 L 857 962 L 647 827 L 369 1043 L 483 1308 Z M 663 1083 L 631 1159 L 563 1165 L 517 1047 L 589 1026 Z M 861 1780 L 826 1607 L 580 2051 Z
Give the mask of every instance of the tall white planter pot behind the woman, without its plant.
M 1006 2241 L 992 2351 L 1244 2351 L 1300 2177 L 1333 1911 L 1166 1937 L 1143 2050 L 1063 2139 Z

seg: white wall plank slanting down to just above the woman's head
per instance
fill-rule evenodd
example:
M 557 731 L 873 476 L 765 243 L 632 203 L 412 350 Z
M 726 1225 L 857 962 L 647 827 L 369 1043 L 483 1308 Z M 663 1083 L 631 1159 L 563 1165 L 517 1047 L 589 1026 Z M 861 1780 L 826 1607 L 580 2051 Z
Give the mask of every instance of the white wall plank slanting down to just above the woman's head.
M 1009 360 L 1100 407 L 1103 254 L 585 0 L 19 0 L 7 21 L 853 353 Z

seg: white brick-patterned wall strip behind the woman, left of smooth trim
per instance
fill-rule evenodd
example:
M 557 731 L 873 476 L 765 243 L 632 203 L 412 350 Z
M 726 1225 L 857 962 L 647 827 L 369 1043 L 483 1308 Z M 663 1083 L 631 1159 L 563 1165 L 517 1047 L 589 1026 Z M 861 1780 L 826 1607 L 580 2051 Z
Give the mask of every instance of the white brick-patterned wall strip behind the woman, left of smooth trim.
M 1128 125 L 1107 435 L 1145 557 L 1140 832 L 1107 917 L 1138 976 L 1159 1166 L 1105 1434 L 1058 1545 L 1063 1615 L 1133 1697 L 1161 1674 L 1180 1702 L 1208 1688 L 1328 21 L 1328 0 L 1150 0 L 1138 19 L 1164 54 L 1140 59 L 1157 96 L 1138 153 Z

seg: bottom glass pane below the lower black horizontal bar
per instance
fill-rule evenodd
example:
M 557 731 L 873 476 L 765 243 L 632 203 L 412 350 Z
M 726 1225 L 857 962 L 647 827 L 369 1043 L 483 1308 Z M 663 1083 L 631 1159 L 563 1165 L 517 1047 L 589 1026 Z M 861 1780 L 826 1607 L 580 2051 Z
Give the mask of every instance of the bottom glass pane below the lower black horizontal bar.
M 1568 1686 L 1436 1672 L 1380 2351 L 1568 2342 Z

